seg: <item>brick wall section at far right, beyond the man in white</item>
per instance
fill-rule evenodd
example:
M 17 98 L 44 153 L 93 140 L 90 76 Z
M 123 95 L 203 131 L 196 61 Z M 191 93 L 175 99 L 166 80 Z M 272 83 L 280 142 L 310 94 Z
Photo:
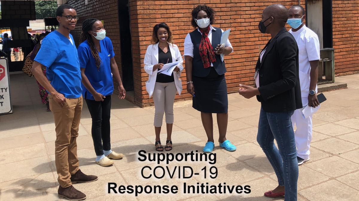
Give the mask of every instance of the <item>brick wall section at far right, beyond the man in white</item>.
M 359 73 L 359 0 L 333 0 L 335 74 Z

